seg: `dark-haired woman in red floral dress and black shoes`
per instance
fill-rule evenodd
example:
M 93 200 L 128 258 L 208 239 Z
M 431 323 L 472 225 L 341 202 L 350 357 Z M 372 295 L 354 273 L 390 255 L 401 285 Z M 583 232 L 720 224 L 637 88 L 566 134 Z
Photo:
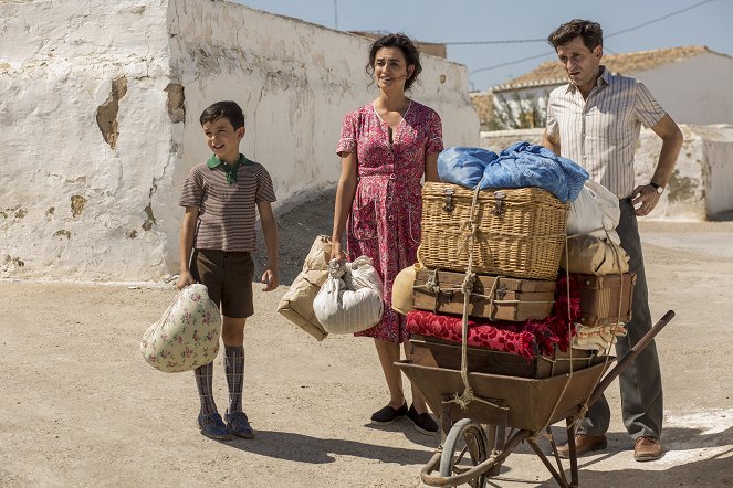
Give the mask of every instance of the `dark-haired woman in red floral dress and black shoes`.
M 417 261 L 422 212 L 421 184 L 440 181 L 438 153 L 443 149 L 438 114 L 405 95 L 422 70 L 419 53 L 404 34 L 385 35 L 371 44 L 367 71 L 379 96 L 346 115 L 337 152 L 342 173 L 336 191 L 332 257 L 343 256 L 347 234 L 349 259 L 366 255 L 385 284 L 381 321 L 356 336 L 374 338 L 389 388 L 389 403 L 371 416 L 389 424 L 407 415 L 418 431 L 432 434 L 438 425 L 425 399 L 413 388 L 408 409 L 402 378 L 394 364 L 409 333 L 405 317 L 391 309 L 397 274 Z M 407 348 L 405 349 L 408 353 Z

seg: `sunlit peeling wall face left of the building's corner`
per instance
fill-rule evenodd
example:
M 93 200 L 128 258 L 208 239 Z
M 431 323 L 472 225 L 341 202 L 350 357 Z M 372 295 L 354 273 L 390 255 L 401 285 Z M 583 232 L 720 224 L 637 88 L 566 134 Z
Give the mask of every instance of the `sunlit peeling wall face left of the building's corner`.
M 4 0 L 0 19 L 0 277 L 159 276 L 143 224 L 170 158 L 164 3 Z M 112 149 L 95 114 L 123 77 Z

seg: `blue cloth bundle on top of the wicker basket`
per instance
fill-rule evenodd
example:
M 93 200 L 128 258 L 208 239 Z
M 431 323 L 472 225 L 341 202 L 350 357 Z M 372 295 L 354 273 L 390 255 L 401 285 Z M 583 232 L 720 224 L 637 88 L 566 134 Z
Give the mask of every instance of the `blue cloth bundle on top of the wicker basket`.
M 515 142 L 499 155 L 481 148 L 452 147 L 438 156 L 438 174 L 446 183 L 481 189 L 537 187 L 562 202 L 574 201 L 588 172 L 549 149 Z

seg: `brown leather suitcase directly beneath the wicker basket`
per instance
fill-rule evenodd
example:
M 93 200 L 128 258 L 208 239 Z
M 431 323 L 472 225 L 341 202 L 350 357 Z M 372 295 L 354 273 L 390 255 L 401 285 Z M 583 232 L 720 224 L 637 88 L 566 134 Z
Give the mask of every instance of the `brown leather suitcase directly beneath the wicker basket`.
M 464 278 L 463 273 L 419 269 L 413 287 L 415 308 L 434 314 L 463 314 Z M 469 316 L 512 321 L 544 319 L 552 312 L 554 303 L 555 282 L 477 275 Z

